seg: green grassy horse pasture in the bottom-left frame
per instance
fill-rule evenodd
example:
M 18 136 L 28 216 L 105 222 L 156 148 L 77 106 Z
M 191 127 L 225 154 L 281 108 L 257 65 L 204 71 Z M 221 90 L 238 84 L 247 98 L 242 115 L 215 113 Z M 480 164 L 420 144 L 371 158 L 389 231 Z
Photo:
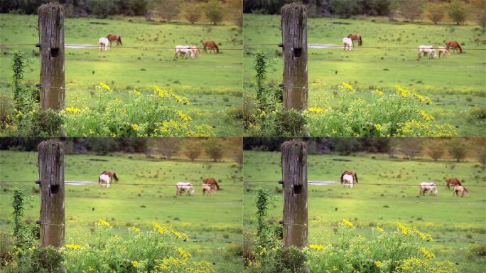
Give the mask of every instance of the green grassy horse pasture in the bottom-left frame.
M 11 198 L 14 186 L 28 193 L 26 220 L 38 220 L 39 197 L 33 193 L 38 179 L 37 153 L 0 151 L 0 223 L 2 231 L 11 232 Z M 170 224 L 175 230 L 188 234 L 184 242 L 196 260 L 215 262 L 217 272 L 241 272 L 242 259 L 229 250 L 242 244 L 242 171 L 229 161 L 185 161 L 147 159 L 141 154 L 113 156 L 66 155 L 66 181 L 97 181 L 99 173 L 112 169 L 119 184 L 111 188 L 97 185 L 65 186 L 66 243 L 76 243 L 81 235 L 90 235 L 99 218 L 107 220 L 120 235 L 136 226 L 151 229 L 153 221 Z M 221 180 L 222 191 L 202 196 L 203 177 Z M 5 183 L 3 181 L 32 181 Z M 192 181 L 194 196 L 175 196 L 178 181 Z M 143 183 L 129 186 L 121 183 Z M 225 187 L 226 186 L 226 187 Z

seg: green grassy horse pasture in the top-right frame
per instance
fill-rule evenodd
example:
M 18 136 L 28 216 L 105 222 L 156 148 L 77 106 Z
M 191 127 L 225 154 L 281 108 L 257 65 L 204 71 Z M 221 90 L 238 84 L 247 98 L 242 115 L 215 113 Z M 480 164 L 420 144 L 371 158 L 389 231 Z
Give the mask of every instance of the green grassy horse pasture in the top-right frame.
M 362 95 L 383 90 L 392 95 L 395 86 L 415 87 L 431 97 L 423 109 L 436 118 L 435 124 L 452 124 L 460 136 L 485 134 L 484 119 L 470 120 L 473 107 L 486 104 L 486 36 L 478 26 L 400 23 L 386 18 L 308 18 L 308 43 L 342 45 L 342 38 L 360 33 L 363 47 L 352 52 L 342 48 L 308 48 L 309 106 L 335 105 L 333 91 L 347 82 Z M 419 45 L 463 43 L 464 54 L 448 58 L 417 60 Z M 244 94 L 254 97 L 252 54 L 258 49 L 275 58 L 268 73 L 273 84 L 282 82 L 280 16 L 244 14 Z M 271 45 L 268 45 L 271 44 Z M 260 46 L 258 46 L 260 45 Z M 404 47 L 404 49 L 365 47 Z M 409 49 L 406 49 L 409 48 Z M 481 129 L 481 127 L 483 127 Z

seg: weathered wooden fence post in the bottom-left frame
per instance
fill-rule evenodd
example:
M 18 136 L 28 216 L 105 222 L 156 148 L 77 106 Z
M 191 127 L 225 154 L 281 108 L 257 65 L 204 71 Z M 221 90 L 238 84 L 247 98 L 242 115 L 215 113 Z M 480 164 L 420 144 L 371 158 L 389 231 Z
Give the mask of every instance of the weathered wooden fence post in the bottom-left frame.
M 38 146 L 41 186 L 41 245 L 61 247 L 65 242 L 64 150 L 58 141 L 43 141 Z

